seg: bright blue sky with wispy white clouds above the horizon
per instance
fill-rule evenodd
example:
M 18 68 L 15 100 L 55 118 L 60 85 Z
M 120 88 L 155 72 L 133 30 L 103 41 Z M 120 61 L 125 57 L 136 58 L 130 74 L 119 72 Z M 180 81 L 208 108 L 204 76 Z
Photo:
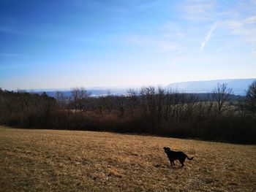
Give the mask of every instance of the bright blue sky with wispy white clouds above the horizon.
M 0 88 L 255 78 L 256 0 L 0 0 Z

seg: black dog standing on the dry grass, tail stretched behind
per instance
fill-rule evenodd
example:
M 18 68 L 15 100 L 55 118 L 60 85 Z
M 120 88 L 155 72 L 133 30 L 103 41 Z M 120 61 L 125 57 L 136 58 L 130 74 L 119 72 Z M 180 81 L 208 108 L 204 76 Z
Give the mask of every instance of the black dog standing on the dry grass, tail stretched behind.
M 170 147 L 164 147 L 165 153 L 167 154 L 167 157 L 170 160 L 170 164 L 174 166 L 174 160 L 178 159 L 178 161 L 181 163 L 182 166 L 184 166 L 184 161 L 186 158 L 189 160 L 192 160 L 194 157 L 189 158 L 184 152 L 182 151 L 174 151 L 170 150 Z

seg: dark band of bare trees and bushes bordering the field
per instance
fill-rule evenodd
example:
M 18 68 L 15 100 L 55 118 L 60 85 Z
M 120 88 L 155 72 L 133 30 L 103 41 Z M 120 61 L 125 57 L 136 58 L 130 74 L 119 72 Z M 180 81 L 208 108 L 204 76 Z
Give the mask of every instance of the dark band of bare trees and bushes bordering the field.
M 224 142 L 256 143 L 256 81 L 234 99 L 226 84 L 212 93 L 129 89 L 125 96 L 92 97 L 72 88 L 68 98 L 0 89 L 0 123 L 23 128 L 115 131 Z M 236 97 L 235 97 L 236 98 Z

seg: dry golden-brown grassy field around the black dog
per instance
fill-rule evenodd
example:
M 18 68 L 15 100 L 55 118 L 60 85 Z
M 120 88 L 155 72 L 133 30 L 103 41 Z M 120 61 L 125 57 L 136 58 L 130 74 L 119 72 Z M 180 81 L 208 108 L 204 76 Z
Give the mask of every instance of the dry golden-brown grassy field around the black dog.
M 0 191 L 256 191 L 256 146 L 0 127 Z

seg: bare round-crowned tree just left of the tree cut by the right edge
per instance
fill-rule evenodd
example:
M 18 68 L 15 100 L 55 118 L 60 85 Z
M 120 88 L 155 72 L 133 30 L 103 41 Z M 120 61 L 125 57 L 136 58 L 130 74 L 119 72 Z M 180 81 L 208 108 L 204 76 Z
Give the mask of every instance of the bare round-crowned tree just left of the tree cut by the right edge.
M 221 114 L 230 109 L 228 102 L 230 101 L 231 88 L 227 88 L 226 83 L 217 84 L 217 88 L 213 91 L 213 100 L 217 104 L 217 113 Z

